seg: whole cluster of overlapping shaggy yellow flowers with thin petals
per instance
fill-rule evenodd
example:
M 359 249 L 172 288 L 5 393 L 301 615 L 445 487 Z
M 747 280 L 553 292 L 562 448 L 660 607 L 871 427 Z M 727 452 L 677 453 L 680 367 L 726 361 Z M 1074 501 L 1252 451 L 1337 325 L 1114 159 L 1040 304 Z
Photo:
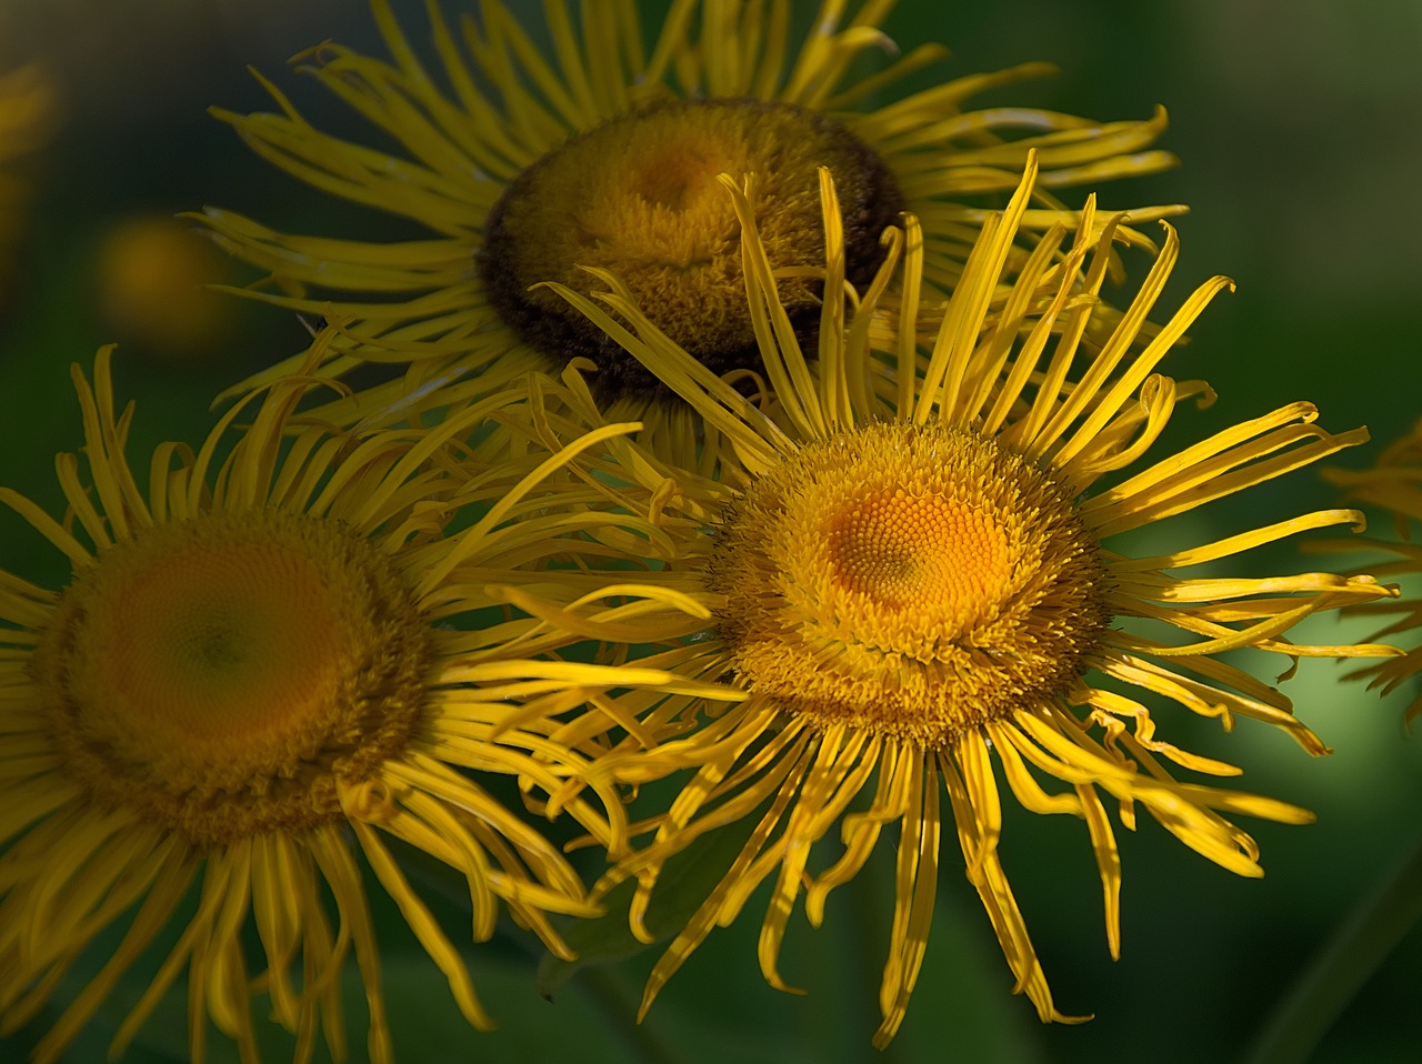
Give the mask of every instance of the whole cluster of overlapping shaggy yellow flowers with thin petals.
M 1365 431 L 1297 401 L 1156 454 L 1176 408 L 1213 397 L 1166 358 L 1230 282 L 1162 309 L 1180 208 L 1088 192 L 1172 165 L 1150 148 L 1163 114 L 968 105 L 1039 65 L 896 94 L 941 50 L 899 55 L 889 6 L 823 0 L 799 37 L 788 0 L 673 0 L 646 40 L 631 0 L 577 17 L 553 1 L 545 54 L 495 0 L 458 26 L 431 4 L 414 44 L 374 0 L 388 58 L 324 44 L 300 63 L 392 147 L 321 132 L 274 85 L 279 112 L 218 112 L 272 164 L 422 235 L 193 215 L 263 270 L 243 294 L 319 321 L 310 349 L 233 388 L 198 447 L 141 462 L 100 351 L 74 371 L 67 512 L 0 488 L 73 572 L 54 590 L 0 570 L 0 1028 L 122 927 L 38 1061 L 159 942 L 115 1053 L 186 970 L 195 1060 L 209 1023 L 256 1060 L 257 994 L 297 1060 L 320 1040 L 340 1057 L 334 974 L 354 954 L 365 1053 L 387 1061 L 368 875 L 482 1028 L 410 853 L 466 885 L 459 936 L 506 915 L 573 959 L 565 929 L 627 882 L 653 942 L 668 862 L 712 832 L 739 832 L 734 855 L 683 906 L 643 1011 L 752 896 L 761 972 L 788 989 L 796 903 L 818 925 L 883 838 L 887 1044 L 957 863 L 947 831 L 1015 990 L 1076 1021 L 998 852 L 1003 784 L 1085 822 L 1112 956 L 1113 821 L 1145 811 L 1257 876 L 1233 818 L 1311 819 L 1200 782 L 1239 770 L 1158 717 L 1249 717 L 1325 754 L 1223 656 L 1381 659 L 1365 671 L 1384 686 L 1418 671 L 1418 650 L 1290 639 L 1359 606 L 1402 610 L 1389 637 L 1415 629 L 1382 573 L 1190 575 L 1361 512 L 1153 556 L 1113 538 Z M 892 58 L 865 74 L 876 54 Z M 1140 259 L 1126 304 L 1103 300 Z M 1422 521 L 1419 441 L 1355 495 Z M 1422 568 L 1416 546 L 1388 549 L 1385 573 Z M 545 829 L 562 818 L 604 858 L 596 878 Z

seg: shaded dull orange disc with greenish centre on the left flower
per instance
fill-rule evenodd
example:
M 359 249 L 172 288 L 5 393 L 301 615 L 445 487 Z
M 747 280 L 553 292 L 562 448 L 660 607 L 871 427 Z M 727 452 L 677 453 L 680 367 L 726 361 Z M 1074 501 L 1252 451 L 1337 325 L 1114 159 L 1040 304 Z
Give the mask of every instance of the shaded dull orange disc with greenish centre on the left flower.
M 428 623 L 378 549 L 269 511 L 139 531 L 64 592 L 36 680 L 70 772 L 199 841 L 338 812 L 397 752 Z

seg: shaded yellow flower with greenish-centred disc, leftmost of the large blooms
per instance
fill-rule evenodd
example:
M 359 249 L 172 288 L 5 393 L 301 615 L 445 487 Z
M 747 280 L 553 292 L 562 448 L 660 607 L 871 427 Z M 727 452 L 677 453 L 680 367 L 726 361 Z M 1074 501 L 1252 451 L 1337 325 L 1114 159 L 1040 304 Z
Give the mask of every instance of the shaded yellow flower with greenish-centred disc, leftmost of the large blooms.
M 127 922 L 38 1060 L 58 1058 L 141 954 L 169 942 L 115 1054 L 186 967 L 193 1060 L 209 1017 L 256 1058 L 259 990 L 299 1060 L 321 1030 L 338 1058 L 337 976 L 354 953 L 368 1058 L 388 1061 L 360 858 L 464 1016 L 485 1027 L 459 950 L 385 839 L 468 881 L 476 940 L 503 910 L 567 954 L 549 913 L 592 912 L 584 886 L 486 784 L 516 777 L 536 805 L 602 750 L 596 720 L 552 715 L 582 701 L 577 684 L 599 667 L 549 653 L 576 639 L 573 624 L 606 634 L 594 565 L 566 589 L 553 569 L 538 578 L 538 595 L 562 610 L 557 632 L 506 609 L 498 585 L 577 556 L 594 523 L 587 506 L 545 498 L 542 485 L 627 427 L 552 455 L 496 435 L 483 448 L 498 461 L 481 471 L 445 448 L 509 415 L 508 398 L 427 432 L 357 438 L 293 415 L 306 378 L 253 394 L 196 452 L 156 448 L 145 494 L 124 457 L 132 410 L 115 408 L 109 351 L 92 385 L 77 368 L 74 380 L 88 475 L 60 455 L 68 515 L 0 489 L 73 568 L 58 592 L 0 572 L 0 1030 L 33 1017 L 98 936 Z M 239 413 L 252 424 L 233 441 Z M 474 516 L 447 532 L 461 511 Z M 617 805 L 565 808 L 616 851 Z M 189 893 L 196 912 L 179 916 Z M 257 973 L 247 925 L 264 957 Z

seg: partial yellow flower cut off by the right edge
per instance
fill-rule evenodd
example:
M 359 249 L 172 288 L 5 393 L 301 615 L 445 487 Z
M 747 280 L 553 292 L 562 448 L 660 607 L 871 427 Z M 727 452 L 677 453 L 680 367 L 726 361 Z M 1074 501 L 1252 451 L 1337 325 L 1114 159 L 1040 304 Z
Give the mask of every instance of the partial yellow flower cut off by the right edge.
M 1422 545 L 1409 542 L 1413 523 L 1422 522 L 1422 421 L 1412 427 L 1412 431 L 1396 440 L 1379 455 L 1371 469 L 1325 469 L 1324 475 L 1334 484 L 1348 488 L 1352 498 L 1371 506 L 1389 511 L 1399 536 L 1399 542 L 1384 542 L 1368 539 L 1364 542 L 1330 543 L 1331 548 L 1349 550 L 1378 549 L 1395 556 L 1395 560 L 1376 566 L 1376 572 L 1388 576 L 1418 576 L 1422 575 Z M 1368 615 L 1385 615 L 1395 619 L 1388 623 L 1376 637 L 1411 633 L 1415 639 L 1422 633 L 1422 599 L 1416 593 L 1409 595 L 1404 602 L 1378 603 L 1365 607 Z M 1422 673 L 1422 644 L 1413 646 L 1402 657 L 1388 661 L 1378 661 L 1358 671 L 1358 676 L 1371 677 L 1369 687 L 1381 687 L 1384 694 L 1391 694 Z M 1411 725 L 1422 717 L 1422 693 L 1408 706 L 1406 723 Z

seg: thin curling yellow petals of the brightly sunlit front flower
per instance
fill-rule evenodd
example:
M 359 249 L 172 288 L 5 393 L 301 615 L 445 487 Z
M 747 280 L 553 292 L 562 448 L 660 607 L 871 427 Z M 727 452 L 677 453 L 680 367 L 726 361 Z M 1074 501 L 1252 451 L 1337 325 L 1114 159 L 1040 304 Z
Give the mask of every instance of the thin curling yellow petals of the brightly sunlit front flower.
M 596 889 L 606 893 L 617 882 L 636 878 L 630 920 L 643 935 L 647 906 L 671 855 L 729 822 L 748 819 L 755 825 L 737 861 L 663 954 L 648 981 L 644 1010 L 711 927 L 737 919 L 755 886 L 766 879 L 774 886 L 762 923 L 761 967 L 772 986 L 786 986 L 778 972 L 778 953 L 796 898 L 806 892 L 808 912 L 818 920 L 825 895 L 862 869 L 886 825 L 899 825 L 893 935 L 882 989 L 884 1023 L 876 1041 L 892 1038 L 907 1007 L 927 939 L 933 882 L 941 859 L 941 787 L 950 799 L 968 879 L 983 898 L 1017 987 L 1032 999 L 1044 1020 L 1066 1020 L 1052 1003 L 997 855 L 1001 814 L 993 761 L 1024 807 L 1071 812 L 1086 821 L 1102 878 L 1108 942 L 1115 954 L 1121 859 L 1103 798 L 1113 799 L 1123 826 L 1133 828 L 1135 811 L 1145 808 L 1210 861 L 1251 876 L 1261 873 L 1257 848 L 1227 816 L 1247 814 L 1294 824 L 1311 819 L 1287 802 L 1177 780 L 1175 774 L 1182 770 L 1206 775 L 1234 775 L 1239 770 L 1165 741 L 1158 733 L 1158 710 L 1148 704 L 1148 697 L 1217 718 L 1226 728 L 1236 717 L 1264 721 L 1294 735 L 1308 752 L 1322 754 L 1327 747 L 1293 715 L 1290 700 L 1277 687 L 1219 656 L 1243 647 L 1273 651 L 1291 661 L 1304 656 L 1395 653 L 1378 644 L 1307 646 L 1287 637 L 1304 617 L 1395 593 L 1372 578 L 1334 573 L 1186 578 L 1173 572 L 1301 532 L 1358 525 L 1361 515 L 1355 511 L 1318 511 L 1207 543 L 1185 543 L 1155 558 L 1129 558 L 1106 546 L 1112 536 L 1267 484 L 1354 447 L 1367 434 L 1327 432 L 1314 424 L 1317 411 L 1310 404 L 1293 404 L 1145 464 L 1145 455 L 1177 407 L 1212 394 L 1200 383 L 1165 377 L 1158 367 L 1190 321 L 1229 283 L 1220 277 L 1207 282 L 1163 326 L 1143 334 L 1176 262 L 1177 239 L 1167 229 L 1149 276 L 1109 337 L 1099 347 L 1088 347 L 1082 337 L 1099 306 L 1095 296 L 1118 223 L 1098 222 L 1088 203 L 1075 238 L 1062 226 L 1054 228 L 1035 245 L 1030 262 L 1004 280 L 1034 179 L 1030 165 L 1007 211 L 984 225 L 947 306 L 931 307 L 937 331 L 923 350 L 923 307 L 912 294 L 884 296 L 890 290 L 923 292 L 916 283 L 924 246 L 916 220 L 909 218 L 902 233 L 889 235 L 884 266 L 865 292 L 855 293 L 845 286 L 842 262 L 836 257 L 833 183 L 829 175 L 822 175 L 828 233 L 825 287 L 843 296 L 826 299 L 813 363 L 812 354 L 799 349 L 796 333 L 778 304 L 774 266 L 757 242 L 749 206 L 754 181 L 742 185 L 725 179 L 742 220 L 749 309 L 766 367 L 761 401 L 747 398 L 687 357 L 629 299 L 611 273 L 599 273 L 607 290 L 596 299 L 560 289 L 695 407 L 708 427 L 705 448 L 714 451 L 701 457 L 701 469 L 710 478 L 658 462 L 630 440 L 617 441 L 613 458 L 597 467 L 604 482 L 623 485 L 627 508 L 651 512 L 656 499 L 661 526 L 680 536 L 684 546 L 681 558 L 671 559 L 654 579 L 704 596 L 715 617 L 701 640 L 660 649 L 643 663 L 675 663 L 685 674 L 705 679 L 729 673 L 747 693 L 739 706 L 715 714 L 702 714 L 694 700 L 631 698 L 629 706 L 640 711 L 644 731 L 660 741 L 647 748 L 646 735 L 629 740 L 593 767 L 593 778 L 637 784 L 691 771 L 670 809 L 653 812 L 644 822 L 646 829 L 654 829 L 651 841 L 619 862 Z M 896 273 L 902 276 L 890 279 Z M 1005 300 L 1000 293 L 1003 284 L 1011 293 Z M 897 339 L 887 346 L 875 344 L 870 341 L 875 329 L 880 330 L 880 340 Z M 579 388 L 576 373 L 566 374 L 565 383 L 569 391 L 565 405 L 596 424 L 596 400 Z M 1113 619 L 1108 627 L 1096 629 L 1086 617 L 1048 613 L 1045 603 L 1054 599 L 1041 599 L 1044 605 L 1035 609 L 1042 612 L 1028 612 L 1022 629 L 1021 639 L 1032 642 L 987 653 L 1003 656 L 1010 647 L 1015 654 L 1021 653 L 1017 646 L 1037 646 L 1039 636 L 1027 634 L 1035 632 L 1034 624 L 1042 626 L 1041 633 L 1061 624 L 1081 624 L 1081 649 L 1072 651 L 1079 657 L 1071 670 L 1045 687 L 1024 688 L 1018 701 L 1004 704 L 985 720 L 940 725 L 940 738 L 933 741 L 904 740 L 897 724 L 887 718 L 876 723 L 872 706 L 853 713 L 826 710 L 818 700 L 820 696 L 812 703 L 803 691 L 796 694 L 793 686 L 779 686 L 774 667 L 762 666 L 761 659 L 752 664 L 741 634 L 747 619 L 735 612 L 741 606 L 734 606 L 742 599 L 724 583 L 725 570 L 718 568 L 724 562 L 717 562 L 718 550 L 755 550 L 751 539 L 732 539 L 729 533 L 734 526 L 737 536 L 741 535 L 741 523 L 749 521 L 748 499 L 764 481 L 779 477 L 782 467 L 805 461 L 806 454 L 826 441 L 850 447 L 867 428 L 884 421 L 903 424 L 906 431 L 943 427 L 993 441 L 1059 485 L 1064 498 L 1072 501 L 1075 519 L 1099 543 L 1091 548 L 1101 566 L 1092 609 Z M 944 444 L 950 440 L 946 437 Z M 830 485 L 829 491 L 836 484 L 813 482 Z M 845 484 L 849 482 L 857 481 L 846 478 Z M 769 515 L 765 521 L 789 519 L 778 515 L 791 514 L 796 504 L 779 492 L 778 488 L 779 501 L 765 511 Z M 805 543 L 808 550 L 809 541 Z M 781 609 L 778 603 L 788 600 L 786 582 L 801 579 L 786 565 L 793 568 L 793 556 L 776 555 L 774 563 L 747 556 L 749 576 L 744 579 L 761 579 L 755 573 L 764 572 L 765 582 L 758 592 L 748 592 L 744 602 L 764 602 L 774 616 Z M 1138 620 L 1152 623 L 1153 629 L 1142 629 Z M 771 633 L 768 639 L 776 637 L 774 627 L 765 630 Z M 778 636 L 784 639 L 786 663 L 802 653 L 795 640 L 805 630 L 803 622 L 786 615 Z M 656 642 L 648 632 L 647 643 Z M 839 643 L 806 644 L 803 653 L 828 673 L 830 686 L 840 671 L 857 667 L 846 661 L 862 660 L 852 636 Z M 919 666 L 906 654 L 892 660 L 894 664 L 886 669 L 893 669 L 897 679 L 892 688 L 897 691 L 904 683 L 902 670 Z M 921 667 L 933 676 L 937 666 L 930 667 L 926 659 Z M 985 677 L 998 676 L 1000 667 L 991 657 L 981 659 Z M 1102 680 L 1092 679 L 1098 673 Z M 947 697 L 947 691 L 967 680 L 939 683 L 948 684 L 941 688 Z M 850 698 L 853 690 L 857 700 L 859 684 L 856 680 L 856 686 L 846 686 L 843 697 Z M 880 704 L 896 707 L 896 713 L 909 711 L 897 694 L 889 697 L 893 691 L 886 686 Z M 927 713 L 929 706 L 923 710 Z M 843 723 L 835 723 L 835 713 L 843 714 Z M 1054 781 L 1066 789 L 1054 794 L 1044 788 L 1044 782 L 1051 787 Z M 848 815 L 856 797 L 867 808 Z M 828 872 L 811 872 L 809 851 L 840 819 L 845 849 L 839 861 Z

